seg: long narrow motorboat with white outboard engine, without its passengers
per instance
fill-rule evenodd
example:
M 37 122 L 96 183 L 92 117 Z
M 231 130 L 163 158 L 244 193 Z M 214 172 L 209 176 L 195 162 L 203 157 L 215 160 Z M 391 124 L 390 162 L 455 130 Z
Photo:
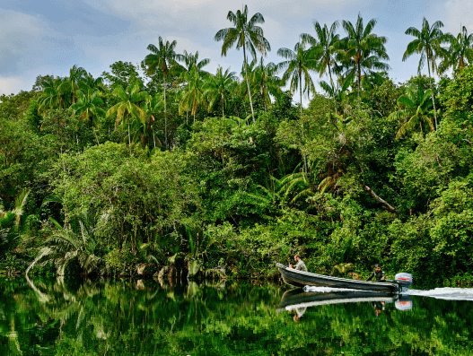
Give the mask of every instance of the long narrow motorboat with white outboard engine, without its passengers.
M 358 291 L 405 293 L 412 285 L 412 275 L 406 273 L 396 274 L 394 281 L 369 282 L 332 277 L 324 274 L 312 274 L 311 272 L 299 271 L 283 264 L 276 264 L 276 266 L 281 273 L 283 281 L 293 287 L 311 285 L 315 287 L 343 288 Z

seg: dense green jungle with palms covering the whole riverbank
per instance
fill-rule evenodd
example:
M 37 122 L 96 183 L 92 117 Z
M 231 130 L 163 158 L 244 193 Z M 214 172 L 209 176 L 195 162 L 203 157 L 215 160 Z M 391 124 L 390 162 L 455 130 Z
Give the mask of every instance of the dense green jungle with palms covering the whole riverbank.
M 0 97 L 0 274 L 272 279 L 299 254 L 473 282 L 473 35 L 407 29 L 396 83 L 361 14 L 308 24 L 278 64 L 261 13 L 227 19 L 239 74 L 159 37 L 139 65 Z

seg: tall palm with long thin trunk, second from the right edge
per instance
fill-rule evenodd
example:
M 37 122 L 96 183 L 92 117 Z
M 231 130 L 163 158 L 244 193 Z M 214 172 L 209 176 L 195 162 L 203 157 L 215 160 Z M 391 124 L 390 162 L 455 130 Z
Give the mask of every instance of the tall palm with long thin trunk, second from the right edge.
M 420 70 L 425 65 L 425 61 L 427 61 L 432 104 L 434 106 L 435 129 L 437 129 L 437 114 L 435 112 L 434 89 L 432 88 L 430 69 L 432 67 L 432 72 L 435 73 L 437 67 L 435 59 L 439 56 L 444 56 L 444 50 L 441 44 L 446 41 L 446 37 L 443 35 L 442 30 L 440 30 L 442 27 L 443 23 L 440 21 L 434 22 L 432 26 L 429 26 L 429 22 L 427 22 L 425 17 L 422 19 L 421 30 L 417 30 L 415 27 L 409 27 L 406 30 L 406 34 L 412 35 L 416 37 L 416 39 L 407 44 L 406 52 L 404 52 L 404 56 L 402 56 L 402 61 L 405 61 L 414 53 L 420 54 L 419 66 L 417 67 L 419 74 Z

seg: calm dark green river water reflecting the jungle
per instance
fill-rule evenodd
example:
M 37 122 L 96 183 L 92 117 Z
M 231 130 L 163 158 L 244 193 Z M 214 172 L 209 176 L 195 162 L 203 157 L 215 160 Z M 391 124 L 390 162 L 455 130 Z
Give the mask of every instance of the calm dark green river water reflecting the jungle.
M 0 355 L 471 355 L 473 290 L 0 279 Z

